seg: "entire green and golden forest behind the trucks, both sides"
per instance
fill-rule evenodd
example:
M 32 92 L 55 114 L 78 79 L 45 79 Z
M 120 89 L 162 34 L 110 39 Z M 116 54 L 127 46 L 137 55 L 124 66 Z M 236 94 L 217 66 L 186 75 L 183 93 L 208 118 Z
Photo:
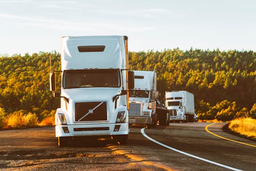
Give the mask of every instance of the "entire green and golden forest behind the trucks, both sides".
M 0 56 L 0 128 L 10 126 L 6 118 L 10 120 L 17 115 L 25 120 L 30 116 L 32 122 L 52 118 L 60 100 L 49 91 L 50 56 L 53 70 L 60 70 L 57 52 Z M 156 70 L 162 99 L 165 91 L 193 93 L 200 119 L 256 118 L 256 53 L 253 51 L 177 48 L 130 52 L 129 58 L 131 70 Z

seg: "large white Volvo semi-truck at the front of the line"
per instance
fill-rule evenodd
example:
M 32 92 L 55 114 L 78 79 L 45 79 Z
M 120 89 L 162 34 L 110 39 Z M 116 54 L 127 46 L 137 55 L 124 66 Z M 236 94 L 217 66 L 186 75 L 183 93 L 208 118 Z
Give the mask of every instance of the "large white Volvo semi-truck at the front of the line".
M 129 134 L 129 71 L 127 36 L 67 36 L 61 44 L 61 86 L 55 72 L 50 90 L 61 97 L 55 115 L 58 145 L 70 138 L 112 137 L 125 144 Z

